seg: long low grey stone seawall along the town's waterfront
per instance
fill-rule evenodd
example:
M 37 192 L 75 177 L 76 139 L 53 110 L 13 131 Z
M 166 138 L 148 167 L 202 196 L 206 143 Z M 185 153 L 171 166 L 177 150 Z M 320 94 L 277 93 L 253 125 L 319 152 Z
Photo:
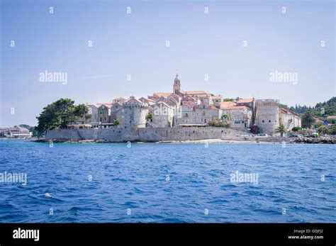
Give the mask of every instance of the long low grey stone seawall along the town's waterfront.
M 47 130 L 45 140 L 79 141 L 101 140 L 106 142 L 159 142 L 205 139 L 231 139 L 239 134 L 228 128 L 101 128 Z

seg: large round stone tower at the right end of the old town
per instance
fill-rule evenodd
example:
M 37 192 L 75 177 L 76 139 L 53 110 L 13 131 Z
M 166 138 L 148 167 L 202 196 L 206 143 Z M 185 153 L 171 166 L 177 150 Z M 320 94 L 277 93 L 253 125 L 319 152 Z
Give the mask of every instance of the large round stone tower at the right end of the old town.
M 256 105 L 256 125 L 262 133 L 274 134 L 279 127 L 279 100 L 258 99 Z

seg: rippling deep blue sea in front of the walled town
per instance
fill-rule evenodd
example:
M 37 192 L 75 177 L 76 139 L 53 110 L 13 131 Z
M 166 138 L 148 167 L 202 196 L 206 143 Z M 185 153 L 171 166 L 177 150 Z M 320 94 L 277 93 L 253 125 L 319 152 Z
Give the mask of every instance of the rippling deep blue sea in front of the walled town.
M 0 140 L 0 173 L 27 174 L 0 182 L 0 222 L 335 223 L 335 150 Z M 231 182 L 235 171 L 258 184 Z

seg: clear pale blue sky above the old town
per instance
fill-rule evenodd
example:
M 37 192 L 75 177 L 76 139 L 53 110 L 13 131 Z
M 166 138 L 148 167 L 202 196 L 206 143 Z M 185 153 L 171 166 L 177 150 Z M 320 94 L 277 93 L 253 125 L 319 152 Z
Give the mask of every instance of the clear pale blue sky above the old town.
M 182 91 L 224 98 L 335 96 L 335 1 L 0 1 L 0 127 L 36 125 L 60 98 L 172 92 L 177 70 Z M 41 82 L 45 71 L 67 82 Z

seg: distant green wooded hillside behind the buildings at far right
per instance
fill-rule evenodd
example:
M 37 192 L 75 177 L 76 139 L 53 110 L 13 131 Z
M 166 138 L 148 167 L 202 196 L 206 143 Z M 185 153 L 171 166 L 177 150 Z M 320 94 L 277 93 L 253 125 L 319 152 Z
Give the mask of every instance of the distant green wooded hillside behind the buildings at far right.
M 331 99 L 323 103 L 318 103 L 313 107 L 310 106 L 308 107 L 306 105 L 303 106 L 296 105 L 295 107 L 294 106 L 288 107 L 285 104 L 280 104 L 280 106 L 299 114 L 305 113 L 306 111 L 310 111 L 318 118 L 326 118 L 327 116 L 336 116 L 336 96 L 332 97 Z M 323 114 L 323 108 L 324 108 L 324 114 Z

